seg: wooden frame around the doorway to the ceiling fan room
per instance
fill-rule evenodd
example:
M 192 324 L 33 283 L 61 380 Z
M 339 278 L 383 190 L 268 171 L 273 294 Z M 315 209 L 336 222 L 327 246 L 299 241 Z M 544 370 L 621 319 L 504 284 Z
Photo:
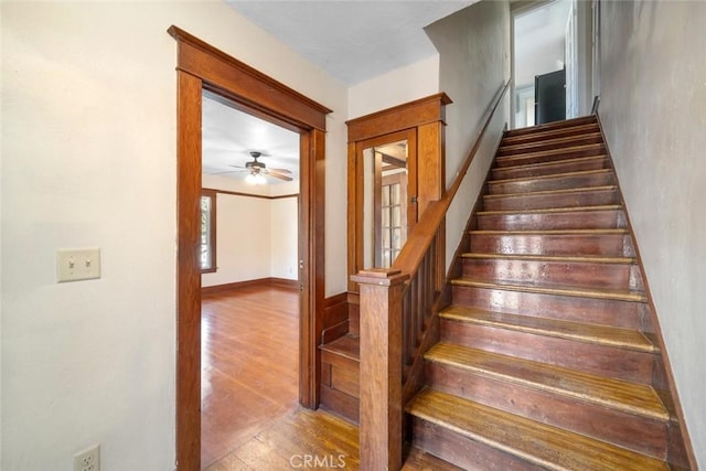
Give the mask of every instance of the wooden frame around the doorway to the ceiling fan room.
M 201 100 L 205 92 L 299 132 L 299 255 L 301 287 L 299 400 L 319 403 L 317 339 L 324 302 L 324 135 L 331 110 L 176 26 L 176 467 L 201 461 Z

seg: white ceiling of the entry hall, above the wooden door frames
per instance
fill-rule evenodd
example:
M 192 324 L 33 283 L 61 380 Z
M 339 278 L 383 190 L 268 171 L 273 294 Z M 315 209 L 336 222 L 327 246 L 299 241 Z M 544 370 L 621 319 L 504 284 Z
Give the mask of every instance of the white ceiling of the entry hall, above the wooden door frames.
M 226 3 L 332 76 L 354 85 L 434 55 L 437 51 L 424 28 L 475 1 Z

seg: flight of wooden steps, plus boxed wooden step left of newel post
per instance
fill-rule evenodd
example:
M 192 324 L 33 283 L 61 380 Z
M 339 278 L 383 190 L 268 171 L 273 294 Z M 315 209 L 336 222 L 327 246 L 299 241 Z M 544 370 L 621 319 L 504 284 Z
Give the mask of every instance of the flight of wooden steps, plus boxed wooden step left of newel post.
M 462 469 L 688 469 L 596 118 L 506 131 L 485 186 L 406 407 L 411 445 Z M 357 345 L 322 346 L 322 404 L 352 420 Z

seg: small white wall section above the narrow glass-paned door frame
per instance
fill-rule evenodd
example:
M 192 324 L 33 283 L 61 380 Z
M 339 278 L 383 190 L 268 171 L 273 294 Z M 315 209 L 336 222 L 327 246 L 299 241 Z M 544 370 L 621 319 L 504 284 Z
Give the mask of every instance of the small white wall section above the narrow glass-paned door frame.
M 357 118 L 439 93 L 439 55 L 396 68 L 349 88 L 349 118 Z

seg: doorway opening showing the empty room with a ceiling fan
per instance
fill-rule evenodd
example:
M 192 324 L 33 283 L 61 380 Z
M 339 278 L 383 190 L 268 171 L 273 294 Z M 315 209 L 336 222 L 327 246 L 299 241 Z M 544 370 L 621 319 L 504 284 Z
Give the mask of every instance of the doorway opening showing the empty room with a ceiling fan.
M 201 464 L 298 405 L 299 133 L 204 92 Z M 215 200 L 215 201 L 214 201 Z

